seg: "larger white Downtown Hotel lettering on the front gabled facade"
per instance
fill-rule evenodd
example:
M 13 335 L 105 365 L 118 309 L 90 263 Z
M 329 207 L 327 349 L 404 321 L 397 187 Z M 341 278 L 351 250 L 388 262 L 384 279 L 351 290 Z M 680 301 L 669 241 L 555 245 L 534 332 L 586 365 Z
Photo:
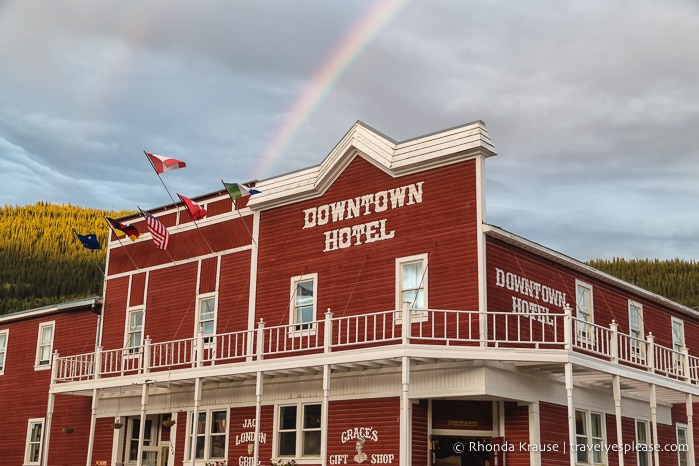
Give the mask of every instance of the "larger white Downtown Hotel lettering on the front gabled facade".
M 393 189 L 365 194 L 352 199 L 323 204 L 303 211 L 303 228 L 315 228 L 330 223 L 351 220 L 365 215 L 399 209 L 404 206 L 422 202 L 422 185 L 424 181 Z M 323 252 L 345 249 L 364 243 L 373 243 L 391 239 L 395 230 L 388 231 L 386 219 L 359 223 L 351 227 L 336 228 L 324 232 L 325 249 Z

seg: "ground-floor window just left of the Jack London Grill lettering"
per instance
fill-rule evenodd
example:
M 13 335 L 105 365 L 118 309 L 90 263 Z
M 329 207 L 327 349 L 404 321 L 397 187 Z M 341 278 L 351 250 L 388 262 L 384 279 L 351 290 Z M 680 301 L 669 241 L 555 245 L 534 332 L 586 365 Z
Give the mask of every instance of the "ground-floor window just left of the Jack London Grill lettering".
M 194 422 L 194 413 L 190 416 L 190 422 Z M 228 411 L 210 410 L 200 411 L 197 420 L 196 434 L 192 436 L 192 428 L 188 432 L 188 445 L 186 457 L 191 459 L 192 442 L 196 445 L 195 458 L 202 460 L 223 459 L 227 456 L 228 445 Z

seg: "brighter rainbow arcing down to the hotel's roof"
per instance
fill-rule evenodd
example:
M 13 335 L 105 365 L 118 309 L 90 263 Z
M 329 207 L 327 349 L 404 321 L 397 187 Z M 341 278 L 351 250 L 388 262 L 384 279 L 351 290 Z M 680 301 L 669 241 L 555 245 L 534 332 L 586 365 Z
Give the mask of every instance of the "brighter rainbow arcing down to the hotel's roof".
M 376 2 L 347 37 L 330 54 L 294 103 L 285 121 L 267 146 L 254 170 L 257 178 L 271 176 L 276 163 L 294 141 L 318 105 L 333 89 L 364 48 L 408 3 L 409 0 Z

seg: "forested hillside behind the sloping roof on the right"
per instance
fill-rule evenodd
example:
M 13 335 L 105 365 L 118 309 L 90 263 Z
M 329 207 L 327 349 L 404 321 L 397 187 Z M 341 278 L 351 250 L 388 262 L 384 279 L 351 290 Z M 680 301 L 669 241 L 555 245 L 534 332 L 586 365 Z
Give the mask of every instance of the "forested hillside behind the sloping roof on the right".
M 592 267 L 685 306 L 699 307 L 699 265 L 673 259 L 591 260 Z

